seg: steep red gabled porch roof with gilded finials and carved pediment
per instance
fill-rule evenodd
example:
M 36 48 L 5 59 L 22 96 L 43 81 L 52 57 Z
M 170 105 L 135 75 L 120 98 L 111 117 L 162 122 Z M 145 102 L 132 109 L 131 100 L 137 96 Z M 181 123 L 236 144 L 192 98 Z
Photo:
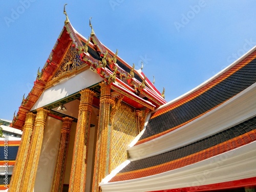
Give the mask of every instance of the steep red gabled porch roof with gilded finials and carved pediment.
M 91 20 L 90 27 L 92 28 Z M 73 52 L 75 55 L 67 56 L 68 52 Z M 26 113 L 33 109 L 33 105 L 45 90 L 53 87 L 62 79 L 85 70 L 97 73 L 105 83 L 112 85 L 114 91 L 124 96 L 124 102 L 135 109 L 155 110 L 165 104 L 163 95 L 143 72 L 134 69 L 134 65 L 132 67 L 126 63 L 117 53 L 118 51 L 114 53 L 99 41 L 93 28 L 87 39 L 73 28 L 66 17 L 65 26 L 45 66 L 41 71 L 38 70 L 34 86 L 28 96 L 23 98 L 17 115 L 14 114 L 11 126 L 22 129 Z

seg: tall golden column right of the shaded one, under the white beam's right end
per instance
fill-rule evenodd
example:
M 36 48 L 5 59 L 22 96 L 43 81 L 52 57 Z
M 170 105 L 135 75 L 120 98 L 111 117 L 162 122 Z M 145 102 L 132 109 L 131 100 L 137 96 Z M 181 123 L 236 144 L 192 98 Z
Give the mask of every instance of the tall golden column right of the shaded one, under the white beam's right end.
M 84 191 L 88 159 L 89 134 L 94 92 L 85 89 L 80 92 L 81 100 L 76 127 L 69 191 Z

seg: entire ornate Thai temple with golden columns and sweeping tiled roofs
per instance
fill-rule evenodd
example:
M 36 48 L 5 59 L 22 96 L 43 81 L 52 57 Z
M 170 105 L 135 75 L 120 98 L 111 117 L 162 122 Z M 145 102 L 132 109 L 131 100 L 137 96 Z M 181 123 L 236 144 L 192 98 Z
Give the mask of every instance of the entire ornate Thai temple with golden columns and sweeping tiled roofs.
M 11 192 L 255 191 L 256 47 L 177 99 L 65 25 L 12 127 Z

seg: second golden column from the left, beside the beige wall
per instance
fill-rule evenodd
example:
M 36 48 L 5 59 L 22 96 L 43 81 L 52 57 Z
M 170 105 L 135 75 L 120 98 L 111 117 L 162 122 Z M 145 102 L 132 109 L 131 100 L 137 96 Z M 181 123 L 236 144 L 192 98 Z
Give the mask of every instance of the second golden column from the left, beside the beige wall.
M 26 161 L 26 171 L 23 174 L 22 192 L 32 192 L 35 183 L 36 170 L 38 166 L 42 137 L 44 136 L 44 129 L 46 125 L 46 118 L 49 113 L 48 110 L 39 108 L 36 110 L 35 125 L 29 146 L 28 159 Z

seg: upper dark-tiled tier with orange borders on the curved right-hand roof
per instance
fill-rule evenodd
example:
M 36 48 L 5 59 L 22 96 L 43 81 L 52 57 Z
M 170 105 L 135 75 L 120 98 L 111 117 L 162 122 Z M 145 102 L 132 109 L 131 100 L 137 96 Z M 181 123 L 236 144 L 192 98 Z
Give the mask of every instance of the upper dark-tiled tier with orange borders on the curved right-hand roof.
M 154 113 L 136 144 L 160 137 L 214 110 L 256 82 L 256 51 L 200 88 Z

